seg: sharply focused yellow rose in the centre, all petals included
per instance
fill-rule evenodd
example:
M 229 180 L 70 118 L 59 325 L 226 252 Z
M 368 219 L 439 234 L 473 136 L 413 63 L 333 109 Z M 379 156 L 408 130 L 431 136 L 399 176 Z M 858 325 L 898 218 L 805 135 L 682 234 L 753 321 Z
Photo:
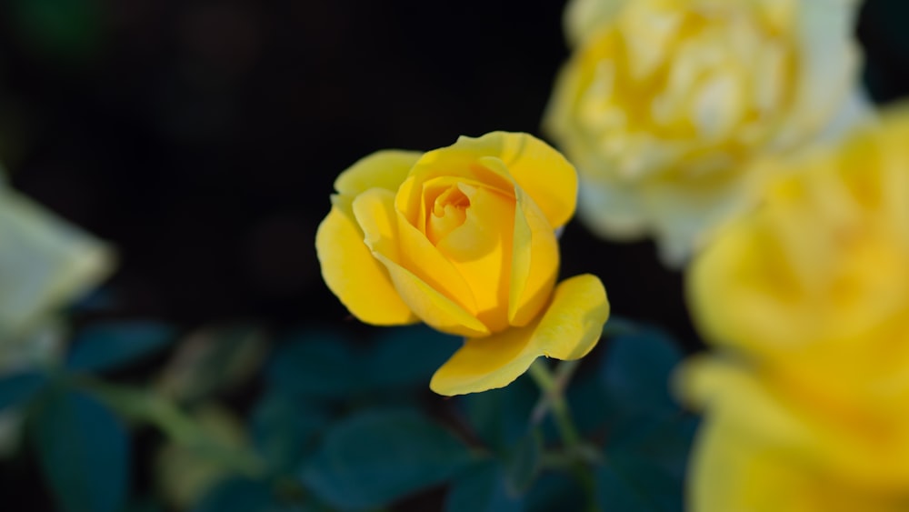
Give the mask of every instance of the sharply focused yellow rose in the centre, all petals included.
M 466 337 L 433 376 L 435 392 L 504 387 L 537 357 L 576 359 L 599 339 L 609 314 L 599 278 L 555 286 L 574 167 L 533 136 L 380 151 L 335 189 L 315 246 L 341 302 L 370 324 L 423 321 Z

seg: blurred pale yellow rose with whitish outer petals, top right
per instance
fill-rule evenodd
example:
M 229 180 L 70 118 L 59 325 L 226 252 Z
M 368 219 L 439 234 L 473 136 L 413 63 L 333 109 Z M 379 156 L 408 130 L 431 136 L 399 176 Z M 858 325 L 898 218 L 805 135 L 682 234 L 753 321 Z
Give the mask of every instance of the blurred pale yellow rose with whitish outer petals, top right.
M 854 0 L 574 0 L 544 129 L 579 215 L 678 265 L 763 183 L 755 157 L 836 136 L 866 107 Z

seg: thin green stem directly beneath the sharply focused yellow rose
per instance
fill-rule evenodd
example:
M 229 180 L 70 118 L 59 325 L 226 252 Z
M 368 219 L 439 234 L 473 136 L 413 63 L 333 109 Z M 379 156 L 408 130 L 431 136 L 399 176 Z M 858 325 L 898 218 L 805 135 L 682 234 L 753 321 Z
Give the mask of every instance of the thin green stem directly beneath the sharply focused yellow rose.
M 564 361 L 555 369 L 555 372 L 552 372 L 544 359 L 541 358 L 534 361 L 534 364 L 530 366 L 529 373 L 536 385 L 540 387 L 543 397 L 541 397 L 537 406 L 534 407 L 531 421 L 539 423 L 543 420 L 547 411 L 552 413 L 555 426 L 562 437 L 565 455 L 572 461 L 570 463 L 571 471 L 581 487 L 584 488 L 588 509 L 595 512 L 597 510 L 596 482 L 590 467 L 591 462 L 596 457 L 593 455 L 595 451 L 588 449 L 584 444 L 577 427 L 574 426 L 574 419 L 568 407 L 568 400 L 564 396 L 568 382 L 574 375 L 574 370 L 577 369 L 578 364 L 578 361 Z

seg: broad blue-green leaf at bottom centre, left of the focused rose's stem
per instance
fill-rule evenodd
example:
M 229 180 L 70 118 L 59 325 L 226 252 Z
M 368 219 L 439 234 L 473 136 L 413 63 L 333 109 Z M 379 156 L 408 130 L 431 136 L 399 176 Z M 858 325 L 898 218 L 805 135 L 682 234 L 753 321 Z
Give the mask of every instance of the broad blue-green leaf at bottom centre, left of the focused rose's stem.
M 379 507 L 442 484 L 473 461 L 457 437 L 426 417 L 366 411 L 328 433 L 302 481 L 335 507 Z

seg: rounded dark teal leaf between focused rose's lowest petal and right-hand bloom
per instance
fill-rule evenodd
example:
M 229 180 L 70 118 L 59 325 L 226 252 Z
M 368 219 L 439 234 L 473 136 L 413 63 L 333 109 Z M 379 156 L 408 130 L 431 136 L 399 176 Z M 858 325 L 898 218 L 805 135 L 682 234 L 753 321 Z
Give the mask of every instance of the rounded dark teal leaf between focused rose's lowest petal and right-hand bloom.
M 676 414 L 669 380 L 682 356 L 673 339 L 652 326 L 613 337 L 600 371 L 607 403 L 624 417 Z

